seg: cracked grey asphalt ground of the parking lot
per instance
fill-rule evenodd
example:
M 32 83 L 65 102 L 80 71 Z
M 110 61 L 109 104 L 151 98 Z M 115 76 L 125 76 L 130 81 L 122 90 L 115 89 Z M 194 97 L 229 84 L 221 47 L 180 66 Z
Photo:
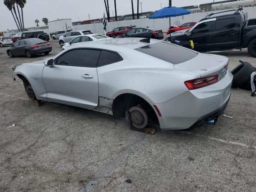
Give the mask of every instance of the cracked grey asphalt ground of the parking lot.
M 61 48 L 51 42 L 54 56 Z M 0 192 L 256 191 L 256 98 L 232 89 L 216 126 L 134 132 L 124 120 L 56 103 L 32 106 L 0 49 Z M 221 53 L 256 67 L 247 50 Z M 47 56 L 48 57 L 48 56 Z M 16 124 L 16 126 L 12 126 Z M 130 179 L 132 183 L 126 183 Z

